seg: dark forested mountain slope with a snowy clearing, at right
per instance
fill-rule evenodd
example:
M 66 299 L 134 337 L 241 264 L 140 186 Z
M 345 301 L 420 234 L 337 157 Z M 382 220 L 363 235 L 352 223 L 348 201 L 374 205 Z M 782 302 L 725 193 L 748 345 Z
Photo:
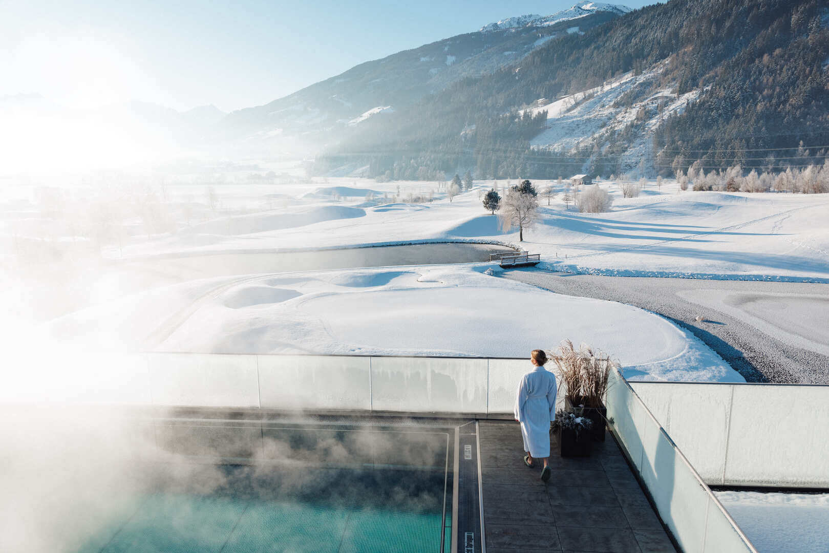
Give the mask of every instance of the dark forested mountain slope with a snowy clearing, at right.
M 369 119 L 315 168 L 558 177 L 822 163 L 827 20 L 824 0 L 644 7 Z

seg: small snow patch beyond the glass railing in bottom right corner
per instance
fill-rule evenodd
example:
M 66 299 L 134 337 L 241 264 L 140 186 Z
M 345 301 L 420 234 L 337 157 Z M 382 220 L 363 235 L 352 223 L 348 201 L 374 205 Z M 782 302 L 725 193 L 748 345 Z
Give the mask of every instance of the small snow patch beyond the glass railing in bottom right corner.
M 715 494 L 759 553 L 829 551 L 829 494 Z

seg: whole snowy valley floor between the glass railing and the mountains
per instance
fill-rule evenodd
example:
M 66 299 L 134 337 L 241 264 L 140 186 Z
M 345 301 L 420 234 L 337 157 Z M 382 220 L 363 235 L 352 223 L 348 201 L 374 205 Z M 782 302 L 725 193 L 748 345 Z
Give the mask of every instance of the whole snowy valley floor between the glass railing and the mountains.
M 511 182 L 478 182 L 453 198 L 435 182 L 320 184 L 223 187 L 232 208 L 106 249 L 116 270 L 85 287 L 107 299 L 49 331 L 107 349 L 488 357 L 570 338 L 619 357 L 637 379 L 829 381 L 829 284 L 803 284 L 829 283 L 827 195 L 681 192 L 666 181 L 623 198 L 619 182 L 603 181 L 613 206 L 589 214 L 547 197 L 548 187 L 564 192 L 556 182 L 536 181 L 539 218 L 519 243 L 481 203 Z M 191 194 L 168 192 L 171 205 Z M 413 196 L 434 201 L 400 201 Z M 539 253 L 547 271 L 508 276 L 557 293 L 445 258 L 395 269 L 313 265 L 315 251 L 453 241 Z M 269 257 L 288 251 L 311 265 Z

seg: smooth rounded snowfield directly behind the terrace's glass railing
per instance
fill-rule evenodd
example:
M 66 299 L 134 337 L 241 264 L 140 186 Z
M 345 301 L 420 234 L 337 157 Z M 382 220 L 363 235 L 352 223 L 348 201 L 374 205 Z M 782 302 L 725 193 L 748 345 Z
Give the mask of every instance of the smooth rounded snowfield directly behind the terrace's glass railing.
M 635 379 L 744 381 L 664 318 L 622 303 L 545 292 L 486 269 L 441 265 L 200 280 L 167 289 L 167 297 L 157 290 L 149 301 L 139 294 L 75 313 L 51 328 L 75 345 L 85 340 L 107 348 L 152 333 L 158 306 L 170 305 L 186 309 L 185 316 L 158 335 L 158 351 L 526 357 L 570 338 L 618 357 Z M 211 293 L 202 294 L 206 289 Z

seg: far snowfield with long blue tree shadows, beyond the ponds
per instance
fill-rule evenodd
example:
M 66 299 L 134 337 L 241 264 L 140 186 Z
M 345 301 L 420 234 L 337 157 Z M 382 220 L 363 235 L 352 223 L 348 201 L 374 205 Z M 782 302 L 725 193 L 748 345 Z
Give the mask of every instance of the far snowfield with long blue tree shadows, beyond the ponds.
M 435 183 L 328 179 L 342 187 L 418 194 Z M 515 184 L 515 181 L 511 182 Z M 516 244 L 516 230 L 502 231 L 481 205 L 492 182 L 448 201 L 384 204 L 343 198 L 332 206 L 319 196 L 258 214 L 231 216 L 171 237 L 124 248 L 124 256 L 170 252 L 302 250 L 419 240 L 483 240 Z M 502 191 L 509 182 L 499 181 Z M 538 190 L 555 182 L 536 181 Z M 650 182 L 624 199 L 617 182 L 599 182 L 614 202 L 607 213 L 587 214 L 540 195 L 541 219 L 521 244 L 555 269 L 623 276 L 690 276 L 719 279 L 829 280 L 829 196 L 679 192 Z M 317 185 L 319 187 L 319 185 Z M 293 192 L 302 195 L 300 189 Z M 312 187 L 307 188 L 313 192 Z M 377 196 L 377 195 L 376 195 Z M 348 201 L 351 200 L 351 201 Z M 304 217 L 304 219 L 303 219 Z M 230 228 L 230 232 L 223 230 Z M 237 234 L 234 231 L 239 230 Z M 119 256 L 118 250 L 110 255 Z

